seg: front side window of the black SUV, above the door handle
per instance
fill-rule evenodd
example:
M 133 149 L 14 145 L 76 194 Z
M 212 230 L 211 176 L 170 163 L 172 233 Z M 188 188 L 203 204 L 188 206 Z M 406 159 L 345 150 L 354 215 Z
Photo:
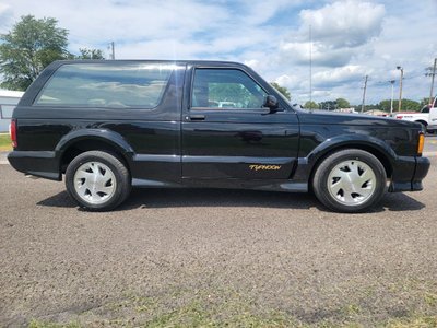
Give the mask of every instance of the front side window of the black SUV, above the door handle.
M 263 108 L 267 93 L 237 69 L 197 69 L 192 86 L 193 108 Z

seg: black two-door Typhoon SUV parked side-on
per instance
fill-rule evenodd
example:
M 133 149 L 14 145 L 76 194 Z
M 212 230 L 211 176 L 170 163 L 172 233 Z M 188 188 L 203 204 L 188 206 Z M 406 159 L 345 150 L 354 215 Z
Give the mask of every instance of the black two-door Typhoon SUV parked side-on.
M 359 212 L 422 189 L 421 125 L 293 107 L 222 61 L 57 61 L 13 113 L 11 165 L 110 210 L 131 187 L 314 190 Z M 388 187 L 388 188 L 387 188 Z

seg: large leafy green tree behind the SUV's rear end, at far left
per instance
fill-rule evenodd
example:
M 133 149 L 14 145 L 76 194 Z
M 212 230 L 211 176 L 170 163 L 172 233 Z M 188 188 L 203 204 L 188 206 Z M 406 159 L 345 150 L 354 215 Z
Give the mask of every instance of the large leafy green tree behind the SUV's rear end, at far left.
M 24 91 L 50 62 L 71 57 L 68 31 L 57 23 L 55 19 L 22 16 L 12 31 L 0 35 L 1 87 Z

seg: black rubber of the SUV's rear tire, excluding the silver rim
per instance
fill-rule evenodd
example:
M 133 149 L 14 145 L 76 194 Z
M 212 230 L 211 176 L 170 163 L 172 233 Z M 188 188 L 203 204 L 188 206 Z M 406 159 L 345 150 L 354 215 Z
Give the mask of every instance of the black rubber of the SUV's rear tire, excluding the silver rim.
M 116 189 L 114 194 L 103 203 L 90 203 L 78 195 L 74 187 L 74 175 L 78 169 L 86 163 L 98 162 L 105 164 L 114 174 L 116 179 Z M 80 207 L 91 211 L 108 211 L 120 204 L 129 195 L 130 177 L 126 166 L 115 155 L 102 151 L 88 151 L 78 155 L 66 171 L 66 187 L 70 196 Z

